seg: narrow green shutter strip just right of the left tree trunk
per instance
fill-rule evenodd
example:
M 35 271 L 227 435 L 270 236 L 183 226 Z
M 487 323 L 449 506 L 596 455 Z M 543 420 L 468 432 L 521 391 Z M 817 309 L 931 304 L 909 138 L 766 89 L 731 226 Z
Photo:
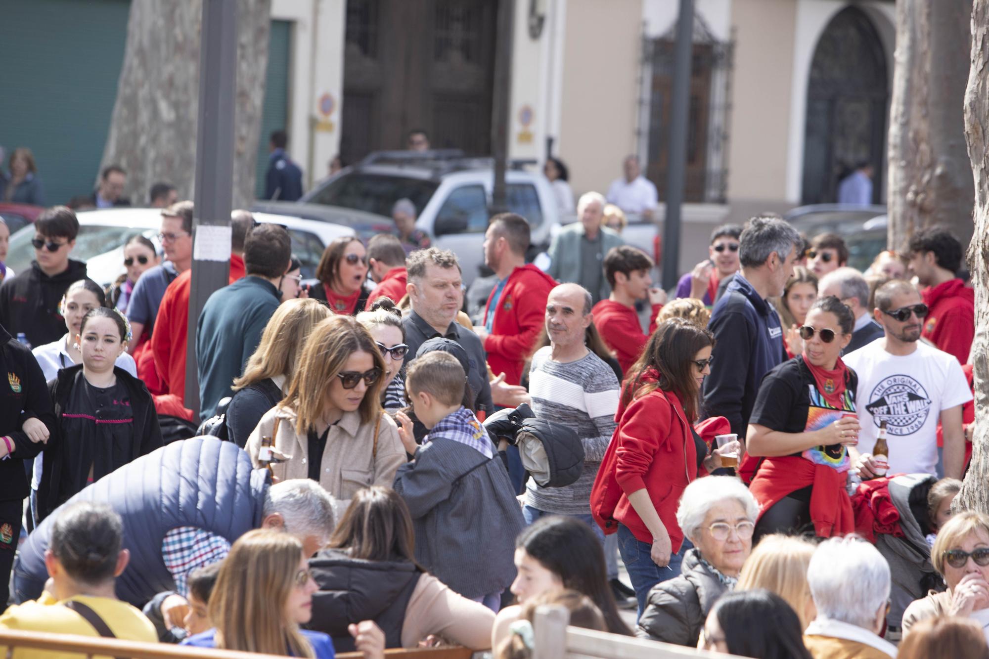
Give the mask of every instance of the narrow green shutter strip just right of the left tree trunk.
M 274 131 L 287 131 L 289 129 L 289 61 L 291 59 L 289 53 L 291 47 L 292 23 L 290 21 L 272 21 L 271 39 L 268 44 L 268 71 L 265 75 L 264 85 L 264 108 L 261 113 L 261 137 L 257 141 L 257 178 L 254 193 L 258 198 L 264 196 L 264 174 L 268 170 L 268 138 Z M 289 140 L 292 140 L 291 135 Z

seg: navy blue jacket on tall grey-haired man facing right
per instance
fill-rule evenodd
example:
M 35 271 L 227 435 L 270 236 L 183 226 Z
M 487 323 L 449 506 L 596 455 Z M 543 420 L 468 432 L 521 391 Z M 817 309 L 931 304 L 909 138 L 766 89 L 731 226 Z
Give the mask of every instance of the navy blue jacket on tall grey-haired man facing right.
M 707 327 L 715 345 L 711 374 L 704 380 L 703 413 L 727 418 L 732 432 L 744 437 L 764 375 L 786 360 L 779 317 L 740 272 L 714 306 Z

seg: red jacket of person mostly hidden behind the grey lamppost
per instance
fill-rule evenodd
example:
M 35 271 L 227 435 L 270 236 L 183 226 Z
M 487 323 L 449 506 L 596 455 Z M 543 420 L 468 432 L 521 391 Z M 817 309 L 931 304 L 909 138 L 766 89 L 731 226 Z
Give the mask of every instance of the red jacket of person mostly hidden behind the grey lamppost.
M 235 282 L 244 276 L 244 259 L 230 255 L 230 279 Z M 189 287 L 192 268 L 175 278 L 158 307 L 151 334 L 151 351 L 154 368 L 161 376 L 164 393 L 174 394 L 180 403 L 185 402 L 186 348 L 189 344 Z

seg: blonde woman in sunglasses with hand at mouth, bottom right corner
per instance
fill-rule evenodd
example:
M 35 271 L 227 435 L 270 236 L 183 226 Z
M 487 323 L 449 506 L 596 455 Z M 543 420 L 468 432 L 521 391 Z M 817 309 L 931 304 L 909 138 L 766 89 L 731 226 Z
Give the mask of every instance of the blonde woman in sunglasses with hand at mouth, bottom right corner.
M 973 617 L 989 623 L 989 516 L 967 511 L 944 523 L 931 548 L 931 564 L 944 577 L 947 590 L 931 591 L 903 612 L 903 637 L 929 617 Z M 974 613 L 974 615 L 973 615 Z

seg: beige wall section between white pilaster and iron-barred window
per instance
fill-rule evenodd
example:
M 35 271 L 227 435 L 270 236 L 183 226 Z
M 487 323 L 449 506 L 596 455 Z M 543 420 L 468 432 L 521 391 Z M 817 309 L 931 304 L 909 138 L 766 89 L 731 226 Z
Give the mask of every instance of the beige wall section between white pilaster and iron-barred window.
M 642 0 L 569 0 L 560 143 L 575 195 L 607 192 L 635 152 Z

